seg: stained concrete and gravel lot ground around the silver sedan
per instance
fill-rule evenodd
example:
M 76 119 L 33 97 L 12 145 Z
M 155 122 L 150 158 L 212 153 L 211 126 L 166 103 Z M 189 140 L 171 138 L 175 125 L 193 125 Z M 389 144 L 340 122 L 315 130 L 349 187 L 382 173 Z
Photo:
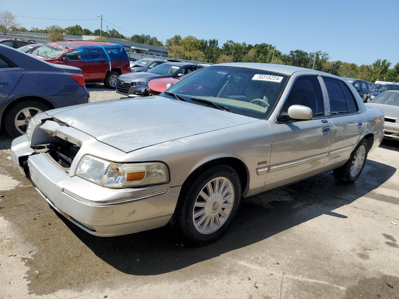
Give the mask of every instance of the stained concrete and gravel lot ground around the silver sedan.
M 119 98 L 89 90 L 91 101 Z M 354 184 L 329 172 L 243 201 L 200 248 L 167 227 L 87 234 L 49 209 L 10 144 L 0 135 L 0 298 L 399 298 L 396 142 L 371 152 Z

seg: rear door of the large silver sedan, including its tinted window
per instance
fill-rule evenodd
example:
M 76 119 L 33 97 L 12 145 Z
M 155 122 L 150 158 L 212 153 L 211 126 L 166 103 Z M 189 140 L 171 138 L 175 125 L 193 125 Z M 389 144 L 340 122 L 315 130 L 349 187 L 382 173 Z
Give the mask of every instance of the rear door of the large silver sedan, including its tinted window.
M 339 166 L 349 158 L 363 133 L 365 118 L 359 112 L 354 95 L 344 81 L 323 77 L 323 82 L 328 94 L 332 122 L 332 142 L 326 165 Z

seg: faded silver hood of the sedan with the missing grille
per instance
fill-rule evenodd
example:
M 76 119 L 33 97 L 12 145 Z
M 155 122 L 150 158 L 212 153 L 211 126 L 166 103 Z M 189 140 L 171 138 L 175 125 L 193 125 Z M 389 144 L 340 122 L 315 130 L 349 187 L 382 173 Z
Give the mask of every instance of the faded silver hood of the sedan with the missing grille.
M 46 113 L 126 153 L 258 120 L 161 96 L 95 102 Z

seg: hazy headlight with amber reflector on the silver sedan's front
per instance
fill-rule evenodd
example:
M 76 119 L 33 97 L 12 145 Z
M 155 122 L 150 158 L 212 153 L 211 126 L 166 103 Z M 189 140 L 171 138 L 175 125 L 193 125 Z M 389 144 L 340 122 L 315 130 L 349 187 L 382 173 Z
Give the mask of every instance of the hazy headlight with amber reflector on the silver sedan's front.
M 97 185 L 108 188 L 141 187 L 168 183 L 169 171 L 164 163 L 113 163 L 85 155 L 75 174 Z

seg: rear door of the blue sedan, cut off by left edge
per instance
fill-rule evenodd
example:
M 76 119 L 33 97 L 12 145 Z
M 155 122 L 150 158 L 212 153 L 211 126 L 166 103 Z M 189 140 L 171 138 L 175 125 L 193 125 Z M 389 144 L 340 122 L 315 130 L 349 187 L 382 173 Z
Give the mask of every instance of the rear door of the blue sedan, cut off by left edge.
M 12 61 L 0 55 L 0 106 L 20 81 L 24 71 Z

